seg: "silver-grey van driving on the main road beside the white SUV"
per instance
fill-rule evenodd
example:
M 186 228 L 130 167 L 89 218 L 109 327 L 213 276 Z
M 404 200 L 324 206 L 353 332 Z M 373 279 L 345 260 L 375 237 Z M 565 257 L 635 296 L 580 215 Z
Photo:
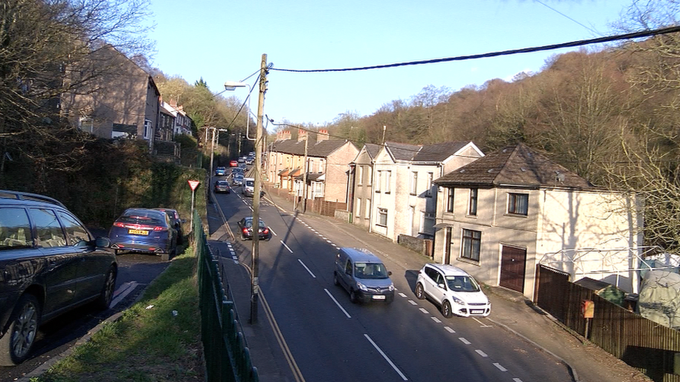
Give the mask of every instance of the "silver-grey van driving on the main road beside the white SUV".
M 392 303 L 391 275 L 376 255 L 363 248 L 340 248 L 335 258 L 333 282 L 347 290 L 353 303 Z

